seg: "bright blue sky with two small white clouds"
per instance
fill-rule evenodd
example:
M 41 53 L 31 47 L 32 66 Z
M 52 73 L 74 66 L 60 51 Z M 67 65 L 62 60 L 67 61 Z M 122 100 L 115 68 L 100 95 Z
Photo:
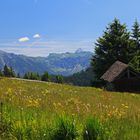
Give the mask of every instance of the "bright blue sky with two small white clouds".
M 131 29 L 140 0 L 0 0 L 0 50 L 27 56 L 94 51 L 114 18 Z

